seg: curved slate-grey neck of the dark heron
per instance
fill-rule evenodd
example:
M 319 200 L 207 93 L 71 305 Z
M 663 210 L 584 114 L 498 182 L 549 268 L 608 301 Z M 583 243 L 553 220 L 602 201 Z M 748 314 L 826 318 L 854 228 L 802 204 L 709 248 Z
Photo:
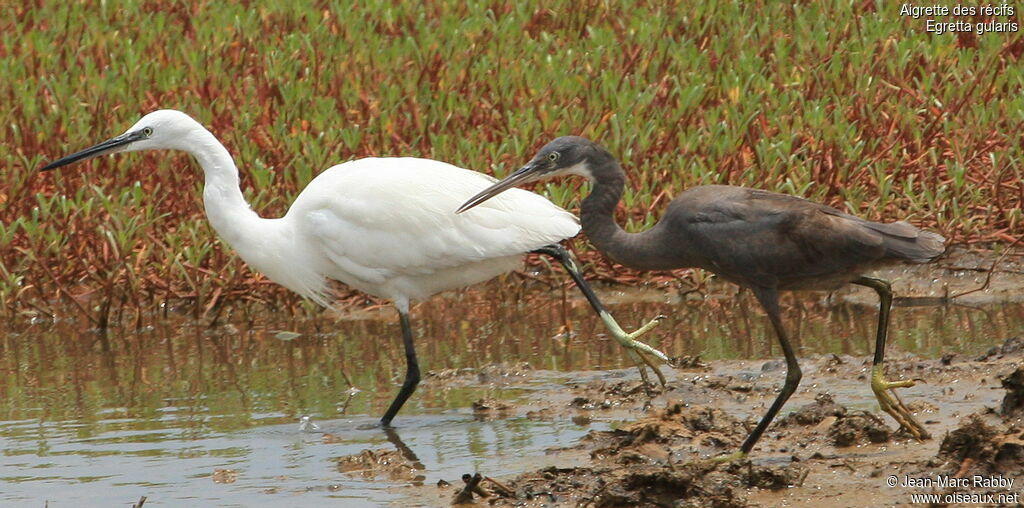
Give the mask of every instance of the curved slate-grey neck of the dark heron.
M 604 152 L 592 156 L 588 166 L 593 176 L 594 189 L 580 206 L 580 219 L 584 232 L 594 247 L 632 268 L 681 267 L 678 264 L 678 253 L 663 252 L 663 246 L 667 243 L 659 241 L 662 227 L 655 225 L 646 231 L 632 234 L 615 222 L 615 205 L 622 199 L 626 185 L 626 173 L 618 162 Z

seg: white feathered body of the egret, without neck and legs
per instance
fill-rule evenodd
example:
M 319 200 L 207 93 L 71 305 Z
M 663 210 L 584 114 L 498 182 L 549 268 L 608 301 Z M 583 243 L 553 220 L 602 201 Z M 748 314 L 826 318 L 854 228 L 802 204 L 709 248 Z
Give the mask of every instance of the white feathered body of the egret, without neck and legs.
M 492 183 L 427 159 L 361 159 L 321 173 L 281 220 L 302 246 L 295 254 L 305 268 L 376 296 L 423 299 L 513 269 L 524 252 L 580 231 L 575 217 L 527 192 L 478 214 L 454 213 Z M 291 287 L 290 273 L 279 281 L 268 268 Z M 325 295 L 324 286 L 292 289 Z

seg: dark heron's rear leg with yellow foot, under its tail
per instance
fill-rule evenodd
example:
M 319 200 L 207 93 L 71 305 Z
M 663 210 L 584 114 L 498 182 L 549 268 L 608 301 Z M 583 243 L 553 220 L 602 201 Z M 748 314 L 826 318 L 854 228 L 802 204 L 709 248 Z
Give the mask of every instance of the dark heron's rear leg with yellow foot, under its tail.
M 874 397 L 879 399 L 879 406 L 901 427 L 910 431 L 918 439 L 928 439 L 931 435 L 925 427 L 918 423 L 910 410 L 903 406 L 894 388 L 906 388 L 913 386 L 913 380 L 887 381 L 885 378 L 885 367 L 883 362 L 886 354 L 886 338 L 889 334 L 889 310 L 893 304 L 892 286 L 881 279 L 862 277 L 853 281 L 853 284 L 865 286 L 874 290 L 879 294 L 879 330 L 874 337 L 874 358 L 871 362 L 871 390 Z

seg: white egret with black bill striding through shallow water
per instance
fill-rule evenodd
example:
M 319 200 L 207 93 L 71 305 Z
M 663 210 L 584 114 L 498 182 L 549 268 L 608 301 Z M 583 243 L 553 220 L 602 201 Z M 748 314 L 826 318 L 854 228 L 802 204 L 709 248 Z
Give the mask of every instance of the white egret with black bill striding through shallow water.
M 552 255 L 565 266 L 611 335 L 628 348 L 644 381 L 646 364 L 665 382 L 645 354 L 663 362 L 668 357 L 635 339 L 657 319 L 633 333 L 623 331 L 557 245 L 580 231 L 575 217 L 525 190 L 502 195 L 471 213 L 455 213 L 462 202 L 496 181 L 482 173 L 427 159 L 350 161 L 313 178 L 284 217 L 262 218 L 243 197 L 238 168 L 223 144 L 191 117 L 172 110 L 153 112 L 124 134 L 41 170 L 104 154 L 162 149 L 186 152 L 199 162 L 206 174 L 203 202 L 210 223 L 257 271 L 325 306 L 334 298 L 331 280 L 394 302 L 407 371 L 381 418 L 385 426 L 420 381 L 410 300 L 512 270 L 531 251 Z

